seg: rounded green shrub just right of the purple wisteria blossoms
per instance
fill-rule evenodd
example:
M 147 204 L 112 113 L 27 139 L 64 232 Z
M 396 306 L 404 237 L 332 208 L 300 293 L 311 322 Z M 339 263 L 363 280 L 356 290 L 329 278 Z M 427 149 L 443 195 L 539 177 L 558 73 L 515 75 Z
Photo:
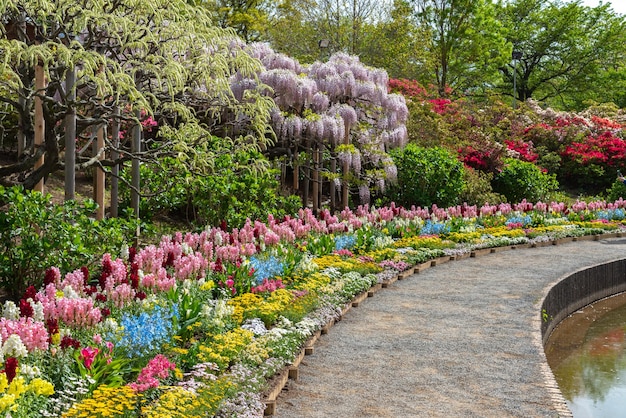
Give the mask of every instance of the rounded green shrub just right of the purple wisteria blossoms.
M 463 164 L 450 151 L 409 144 L 391 156 L 398 168 L 398 183 L 386 192 L 389 201 L 407 207 L 459 203 L 465 188 Z

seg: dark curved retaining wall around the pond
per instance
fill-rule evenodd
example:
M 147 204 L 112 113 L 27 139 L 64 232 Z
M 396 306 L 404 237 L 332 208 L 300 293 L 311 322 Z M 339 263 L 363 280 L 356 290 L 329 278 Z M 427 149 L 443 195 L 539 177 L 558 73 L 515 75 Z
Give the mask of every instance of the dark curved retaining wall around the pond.
M 626 259 L 579 270 L 557 283 L 541 305 L 541 337 L 546 345 L 554 328 L 577 310 L 626 291 Z

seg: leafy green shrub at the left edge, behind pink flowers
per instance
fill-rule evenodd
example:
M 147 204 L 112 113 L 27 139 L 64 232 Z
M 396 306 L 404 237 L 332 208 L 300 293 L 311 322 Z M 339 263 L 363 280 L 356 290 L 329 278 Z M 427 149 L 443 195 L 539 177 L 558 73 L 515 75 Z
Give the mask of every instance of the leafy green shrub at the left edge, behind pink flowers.
M 48 267 L 63 273 L 116 256 L 137 229 L 120 218 L 95 220 L 92 200 L 55 205 L 50 195 L 19 187 L 0 186 L 0 206 L 0 287 L 14 300 L 39 287 Z

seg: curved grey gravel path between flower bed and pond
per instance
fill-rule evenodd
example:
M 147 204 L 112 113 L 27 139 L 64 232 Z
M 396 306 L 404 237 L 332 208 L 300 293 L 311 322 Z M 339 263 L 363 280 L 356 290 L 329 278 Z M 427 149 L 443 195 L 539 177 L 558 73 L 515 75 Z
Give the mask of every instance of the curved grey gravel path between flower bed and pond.
M 541 303 L 576 270 L 625 258 L 626 238 L 619 237 L 483 251 L 420 269 L 316 339 L 266 413 L 571 417 L 546 363 Z

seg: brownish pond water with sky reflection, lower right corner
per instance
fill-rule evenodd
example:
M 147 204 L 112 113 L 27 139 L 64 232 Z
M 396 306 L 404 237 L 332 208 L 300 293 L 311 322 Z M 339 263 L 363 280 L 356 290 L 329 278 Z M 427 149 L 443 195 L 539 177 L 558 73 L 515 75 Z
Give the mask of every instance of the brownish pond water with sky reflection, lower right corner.
M 626 294 L 575 312 L 545 351 L 575 418 L 626 417 Z

